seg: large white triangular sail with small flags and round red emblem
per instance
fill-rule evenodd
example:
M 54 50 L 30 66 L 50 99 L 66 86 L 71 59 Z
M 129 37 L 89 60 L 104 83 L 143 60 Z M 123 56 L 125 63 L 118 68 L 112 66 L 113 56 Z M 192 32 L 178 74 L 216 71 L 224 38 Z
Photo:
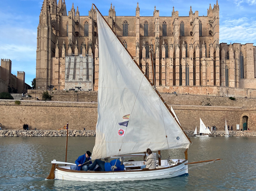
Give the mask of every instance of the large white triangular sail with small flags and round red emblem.
M 147 148 L 188 148 L 185 132 L 99 12 L 97 25 L 98 120 L 92 159 Z

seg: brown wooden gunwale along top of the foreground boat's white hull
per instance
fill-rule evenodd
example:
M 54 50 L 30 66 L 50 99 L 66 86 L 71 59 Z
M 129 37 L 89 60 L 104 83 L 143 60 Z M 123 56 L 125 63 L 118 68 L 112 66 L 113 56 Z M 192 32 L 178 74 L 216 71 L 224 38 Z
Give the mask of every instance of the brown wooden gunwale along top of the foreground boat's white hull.
M 164 167 L 164 168 L 154 168 L 154 169 L 145 169 L 145 170 L 121 170 L 121 171 L 81 171 L 81 170 L 71 170 L 71 169 L 66 169 L 66 168 L 61 168 L 61 167 L 56 167 L 58 170 L 62 170 L 65 172 L 75 172 L 75 173 L 113 173 L 113 172 L 148 172 L 148 171 L 154 171 L 154 170 L 162 170 L 162 169 L 168 169 L 168 168 L 173 168 L 177 167 L 183 163 L 187 162 L 186 159 L 184 159 L 182 162 L 175 164 L 170 167 Z

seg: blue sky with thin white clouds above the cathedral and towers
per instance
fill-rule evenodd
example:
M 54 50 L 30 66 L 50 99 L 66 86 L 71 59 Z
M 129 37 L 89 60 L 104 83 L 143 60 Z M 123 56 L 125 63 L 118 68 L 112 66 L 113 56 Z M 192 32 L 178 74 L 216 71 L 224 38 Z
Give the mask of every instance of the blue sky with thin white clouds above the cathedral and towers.
M 67 10 L 74 3 L 80 15 L 88 15 L 94 3 L 103 15 L 108 15 L 110 3 L 115 6 L 117 16 L 133 16 L 138 0 L 66 0 Z M 26 73 L 25 81 L 31 85 L 35 78 L 36 32 L 43 0 L 1 1 L 0 7 L 0 58 L 12 60 L 12 73 Z M 188 16 L 190 6 L 193 12 L 207 15 L 209 4 L 216 0 L 143 0 L 139 1 L 140 15 L 152 16 L 154 6 L 160 16 L 171 16 L 172 8 L 180 16 Z M 256 43 L 256 0 L 219 0 L 220 42 Z M 255 44 L 256 45 L 256 44 Z

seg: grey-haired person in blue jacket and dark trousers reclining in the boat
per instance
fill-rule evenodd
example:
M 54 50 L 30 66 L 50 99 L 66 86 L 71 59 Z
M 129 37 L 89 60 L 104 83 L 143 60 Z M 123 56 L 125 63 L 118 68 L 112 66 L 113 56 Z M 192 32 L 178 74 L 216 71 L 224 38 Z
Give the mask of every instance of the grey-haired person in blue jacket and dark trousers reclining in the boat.
M 110 163 L 105 163 L 102 160 L 96 159 L 88 170 L 92 171 L 94 170 L 96 165 L 99 165 L 99 167 L 96 168 L 95 171 L 112 171 L 111 167 L 116 164 L 117 168 L 114 168 L 114 171 L 121 171 L 125 169 L 125 165 L 123 164 L 124 159 L 125 158 L 121 157 L 120 160 L 114 159 L 111 160 Z

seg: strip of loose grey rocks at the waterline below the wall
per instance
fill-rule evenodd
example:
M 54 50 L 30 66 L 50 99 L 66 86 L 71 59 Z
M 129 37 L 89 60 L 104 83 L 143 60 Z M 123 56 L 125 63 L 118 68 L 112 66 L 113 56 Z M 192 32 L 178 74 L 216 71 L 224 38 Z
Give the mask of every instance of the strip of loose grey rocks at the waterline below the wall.
M 193 136 L 194 131 L 185 131 L 188 136 Z M 230 136 L 235 137 L 256 137 L 256 131 L 230 131 Z M 203 134 L 204 135 L 204 134 Z M 224 131 L 212 131 L 209 136 L 224 136 Z M 95 131 L 69 130 L 70 137 L 90 137 L 96 136 Z M 66 137 L 65 130 L 40 130 L 40 131 L 18 131 L 18 130 L 1 130 L 0 137 Z

